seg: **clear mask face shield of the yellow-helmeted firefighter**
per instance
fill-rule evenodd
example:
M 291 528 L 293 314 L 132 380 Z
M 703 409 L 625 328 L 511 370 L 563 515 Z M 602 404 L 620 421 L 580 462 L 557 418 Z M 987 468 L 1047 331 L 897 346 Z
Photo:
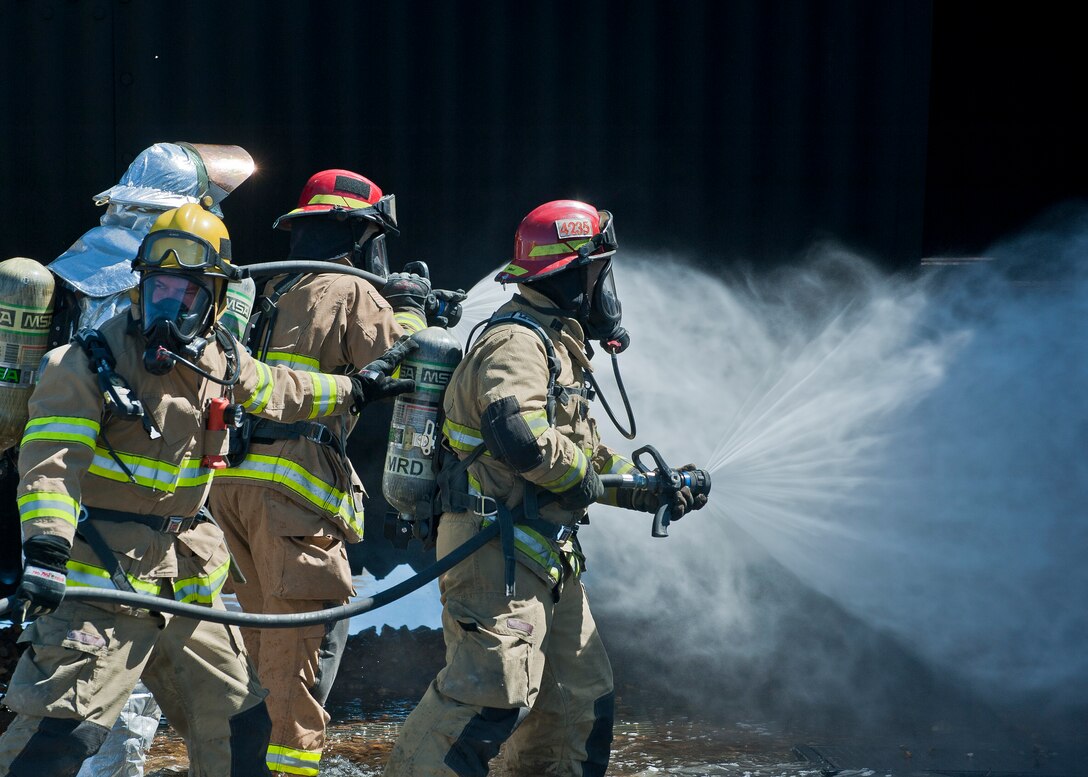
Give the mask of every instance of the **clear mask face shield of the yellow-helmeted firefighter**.
M 202 275 L 145 272 L 139 283 L 140 325 L 149 345 L 177 350 L 212 324 L 215 296 Z

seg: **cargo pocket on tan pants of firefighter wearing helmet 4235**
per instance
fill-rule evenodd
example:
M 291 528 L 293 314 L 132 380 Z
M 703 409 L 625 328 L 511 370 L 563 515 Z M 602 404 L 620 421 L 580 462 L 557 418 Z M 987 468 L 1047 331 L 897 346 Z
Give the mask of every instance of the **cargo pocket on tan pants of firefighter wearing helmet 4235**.
M 534 664 L 543 661 L 533 627 L 505 613 L 482 618 L 455 603 L 447 604 L 447 616 L 455 624 L 446 628 L 450 644 L 438 690 L 462 704 L 532 706 L 541 675 Z

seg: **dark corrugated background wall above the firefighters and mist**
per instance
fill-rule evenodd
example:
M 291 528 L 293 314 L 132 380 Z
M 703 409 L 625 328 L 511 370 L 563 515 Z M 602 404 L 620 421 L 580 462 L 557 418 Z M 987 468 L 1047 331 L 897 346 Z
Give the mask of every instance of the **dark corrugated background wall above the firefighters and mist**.
M 139 150 L 189 140 L 257 161 L 242 261 L 283 258 L 273 219 L 343 166 L 445 286 L 566 196 L 708 267 L 831 236 L 910 268 L 1086 194 L 1078 29 L 953 0 L 0 0 L 0 257 L 52 259 Z

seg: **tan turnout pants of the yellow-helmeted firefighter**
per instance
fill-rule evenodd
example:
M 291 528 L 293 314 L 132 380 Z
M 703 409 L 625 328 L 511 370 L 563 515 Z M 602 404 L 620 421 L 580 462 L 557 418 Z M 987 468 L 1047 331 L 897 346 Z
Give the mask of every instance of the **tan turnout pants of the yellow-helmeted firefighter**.
M 29 644 L 4 698 L 17 717 L 0 737 L 0 775 L 76 775 L 141 677 L 185 739 L 190 777 L 268 774 L 264 692 L 236 629 L 63 602 L 20 642 Z

